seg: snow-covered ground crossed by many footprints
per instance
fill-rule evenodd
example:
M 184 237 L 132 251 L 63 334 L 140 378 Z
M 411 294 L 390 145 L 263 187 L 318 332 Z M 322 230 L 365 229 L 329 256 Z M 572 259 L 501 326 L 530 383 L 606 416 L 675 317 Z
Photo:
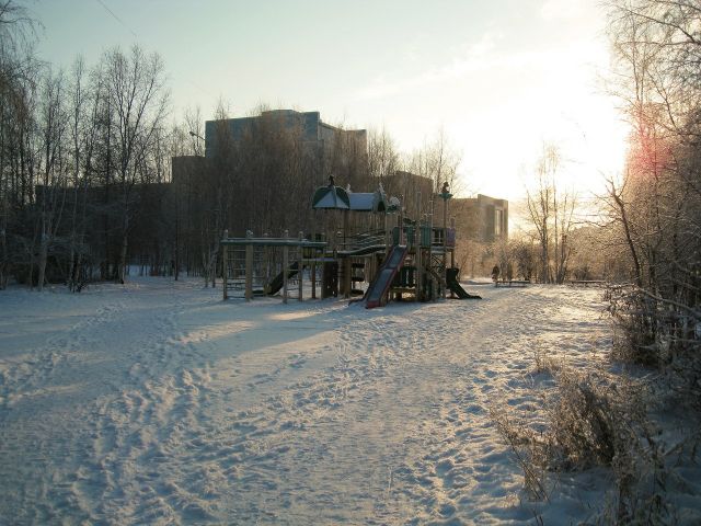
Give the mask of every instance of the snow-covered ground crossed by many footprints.
M 586 366 L 609 348 L 600 290 L 466 287 L 484 299 L 1 291 L 0 524 L 591 517 L 606 478 L 530 502 L 489 409 L 536 405 L 535 352 Z

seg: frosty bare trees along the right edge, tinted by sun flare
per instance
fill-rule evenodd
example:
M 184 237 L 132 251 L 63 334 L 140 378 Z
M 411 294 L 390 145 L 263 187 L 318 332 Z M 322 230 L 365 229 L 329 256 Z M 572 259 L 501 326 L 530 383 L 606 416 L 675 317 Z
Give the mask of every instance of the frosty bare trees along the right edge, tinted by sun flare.
M 701 407 L 701 2 L 608 3 L 630 150 L 604 199 L 610 258 L 632 286 L 611 293 L 620 352 L 659 367 Z

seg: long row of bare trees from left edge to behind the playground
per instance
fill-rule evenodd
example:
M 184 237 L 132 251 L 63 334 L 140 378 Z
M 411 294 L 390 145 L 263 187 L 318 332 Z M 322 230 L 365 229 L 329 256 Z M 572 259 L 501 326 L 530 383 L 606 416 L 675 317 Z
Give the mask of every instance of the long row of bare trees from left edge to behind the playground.
M 26 9 L 1 0 L 0 288 L 15 278 L 80 290 L 94 279 L 124 282 L 135 265 L 209 278 L 225 230 L 333 231 L 333 218 L 310 207 L 330 175 L 363 192 L 386 182 L 407 202 L 412 188 L 391 178 L 398 170 L 429 178 L 434 191 L 457 181 L 460 157 L 443 133 L 405 155 L 383 129 L 360 148 L 338 126 L 341 139 L 320 151 L 300 129 L 258 118 L 257 133 L 171 182 L 172 159 L 202 156 L 204 134 L 199 110 L 172 118 L 162 58 L 135 45 L 61 70 L 36 56 L 36 42 Z M 220 103 L 222 144 L 229 116 Z

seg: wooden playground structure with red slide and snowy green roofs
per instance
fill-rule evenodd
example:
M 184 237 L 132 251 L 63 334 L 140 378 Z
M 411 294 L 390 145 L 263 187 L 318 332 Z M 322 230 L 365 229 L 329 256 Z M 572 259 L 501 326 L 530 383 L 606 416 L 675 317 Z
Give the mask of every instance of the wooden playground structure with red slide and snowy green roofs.
M 433 225 L 433 215 L 416 220 L 404 217 L 399 199 L 388 198 L 381 185 L 374 193 L 353 193 L 335 186 L 330 178 L 327 186 L 317 188 L 312 207 L 342 214 L 343 227 L 336 236 L 306 238 L 299 232 L 290 238 L 286 231 L 281 238 L 256 238 L 252 232 L 229 238 L 225 232 L 223 298 L 242 294 L 251 300 L 281 293 L 284 302 L 295 295 L 301 301 L 304 279 L 311 284 L 311 299 L 320 287 L 322 299 L 361 295 L 359 300 L 368 309 L 392 299 L 435 300 L 448 291 L 459 299 L 479 298 L 458 279 L 455 220 L 447 225 L 447 203 L 452 196 L 447 184 L 437 196 L 445 204 L 443 227 Z M 421 195 L 416 198 L 421 204 Z M 375 222 L 383 226 L 350 233 L 350 214 L 375 214 Z

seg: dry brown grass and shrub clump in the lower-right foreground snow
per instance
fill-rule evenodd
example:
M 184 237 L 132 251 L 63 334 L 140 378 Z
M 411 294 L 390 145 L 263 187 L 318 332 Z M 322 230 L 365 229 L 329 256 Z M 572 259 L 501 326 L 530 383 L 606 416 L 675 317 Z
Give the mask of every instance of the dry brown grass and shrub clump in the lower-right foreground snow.
M 597 466 L 611 469 L 614 489 L 601 524 L 669 524 L 663 455 L 646 419 L 644 396 L 630 381 L 583 375 L 537 357 L 539 371 L 553 374 L 556 387 L 542 395 L 547 428 L 535 431 L 507 407 L 491 416 L 524 472 L 533 500 L 550 500 L 559 472 Z

